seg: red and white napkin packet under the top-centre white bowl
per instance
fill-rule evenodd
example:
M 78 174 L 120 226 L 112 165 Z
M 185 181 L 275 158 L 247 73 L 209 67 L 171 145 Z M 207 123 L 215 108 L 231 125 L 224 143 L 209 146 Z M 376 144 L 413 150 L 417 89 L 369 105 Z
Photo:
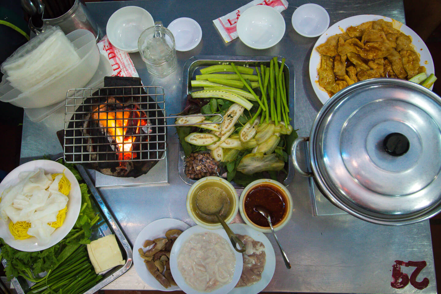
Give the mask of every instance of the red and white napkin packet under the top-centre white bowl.
M 277 11 L 282 12 L 288 8 L 287 0 L 253 0 L 248 4 L 239 7 L 235 11 L 228 13 L 227 15 L 221 16 L 218 19 L 213 20 L 214 26 L 221 34 L 222 38 L 226 43 L 237 38 L 236 22 L 239 19 L 240 14 L 255 5 L 268 5 L 275 8 Z

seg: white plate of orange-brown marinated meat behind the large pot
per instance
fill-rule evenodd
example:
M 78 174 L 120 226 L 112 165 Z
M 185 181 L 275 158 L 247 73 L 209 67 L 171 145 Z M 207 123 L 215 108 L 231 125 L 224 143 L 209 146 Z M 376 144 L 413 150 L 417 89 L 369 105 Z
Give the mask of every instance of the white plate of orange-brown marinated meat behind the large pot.
M 318 99 L 368 78 L 410 79 L 434 62 L 424 41 L 403 23 L 380 15 L 356 15 L 336 22 L 317 40 L 309 74 Z M 320 74 L 319 74 L 320 72 Z

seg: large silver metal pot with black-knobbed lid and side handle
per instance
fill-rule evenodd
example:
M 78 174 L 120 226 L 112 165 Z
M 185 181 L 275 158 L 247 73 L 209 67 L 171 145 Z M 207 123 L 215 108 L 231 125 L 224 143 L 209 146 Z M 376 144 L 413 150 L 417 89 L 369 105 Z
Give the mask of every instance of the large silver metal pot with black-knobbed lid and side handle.
M 292 145 L 299 174 L 362 220 L 403 225 L 441 211 L 441 98 L 413 82 L 377 78 L 336 93 L 310 137 Z M 312 172 L 297 162 L 309 141 Z

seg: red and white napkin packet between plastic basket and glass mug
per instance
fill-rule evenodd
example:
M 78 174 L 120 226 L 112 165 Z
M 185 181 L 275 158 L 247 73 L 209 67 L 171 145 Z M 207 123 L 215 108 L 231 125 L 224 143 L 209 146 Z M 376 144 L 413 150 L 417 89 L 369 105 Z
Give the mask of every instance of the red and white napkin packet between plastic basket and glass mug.
M 129 53 L 122 51 L 109 42 L 107 35 L 97 43 L 100 54 L 104 55 L 110 62 L 113 70 L 113 76 L 119 77 L 137 77 L 138 72 L 133 65 Z

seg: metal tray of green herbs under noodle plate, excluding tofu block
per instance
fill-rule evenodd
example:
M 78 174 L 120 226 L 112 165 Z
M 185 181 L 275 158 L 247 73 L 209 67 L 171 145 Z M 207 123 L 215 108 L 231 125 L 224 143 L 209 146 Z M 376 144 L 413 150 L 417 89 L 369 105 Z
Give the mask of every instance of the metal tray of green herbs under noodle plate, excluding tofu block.
M 0 238 L 0 259 L 7 278 L 19 294 L 92 294 L 126 272 L 132 249 L 118 223 L 81 165 L 64 164 L 78 179 L 81 210 L 67 236 L 56 245 L 35 252 L 14 249 Z M 125 264 L 97 275 L 86 244 L 114 234 Z

